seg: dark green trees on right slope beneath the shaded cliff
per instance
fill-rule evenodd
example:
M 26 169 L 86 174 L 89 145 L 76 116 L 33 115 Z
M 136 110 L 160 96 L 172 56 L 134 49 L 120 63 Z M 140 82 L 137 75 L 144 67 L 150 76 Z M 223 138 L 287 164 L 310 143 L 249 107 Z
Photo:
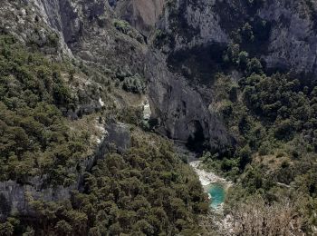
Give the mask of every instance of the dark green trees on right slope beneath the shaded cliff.
M 220 74 L 215 84 L 216 101 L 221 104 L 219 113 L 238 146 L 250 147 L 248 151 L 251 153 L 247 155 L 235 152 L 234 157 L 244 162 L 241 168 L 251 162 L 253 153 L 267 155 L 283 143 L 301 146 L 297 150 L 292 148 L 294 144 L 285 146 L 286 152 L 292 156 L 298 156 L 299 150 L 302 153 L 317 150 L 314 142 L 317 128 L 314 87 L 304 86 L 287 74 L 266 76 L 260 73 L 242 78 L 239 85 Z M 237 97 L 242 97 L 242 101 Z

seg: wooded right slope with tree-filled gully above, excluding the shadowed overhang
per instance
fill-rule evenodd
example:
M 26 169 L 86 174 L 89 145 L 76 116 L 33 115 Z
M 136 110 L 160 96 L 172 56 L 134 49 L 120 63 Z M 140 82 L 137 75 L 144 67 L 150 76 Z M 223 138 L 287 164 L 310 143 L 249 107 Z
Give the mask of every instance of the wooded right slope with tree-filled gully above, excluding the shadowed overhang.
M 213 78 L 213 109 L 235 137 L 236 148 L 226 155 L 205 152 L 202 158 L 207 168 L 235 182 L 227 196 L 227 212 L 241 212 L 244 218 L 246 211 L 256 214 L 261 209 L 265 215 L 265 209 L 287 209 L 293 218 L 283 219 L 286 225 L 296 221 L 295 229 L 310 233 L 317 220 L 317 82 L 307 74 L 267 71 L 253 51 L 261 42 L 258 30 L 245 23 L 234 31 L 235 43 L 223 51 L 220 64 L 242 77 L 218 73 Z M 266 217 L 274 219 L 271 213 Z M 261 227 L 250 229 L 252 235 Z

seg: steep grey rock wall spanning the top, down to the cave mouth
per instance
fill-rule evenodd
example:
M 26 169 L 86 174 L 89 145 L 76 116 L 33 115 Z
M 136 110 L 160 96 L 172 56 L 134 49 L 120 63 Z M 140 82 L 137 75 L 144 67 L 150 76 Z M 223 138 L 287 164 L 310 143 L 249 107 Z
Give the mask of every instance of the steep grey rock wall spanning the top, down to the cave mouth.
M 193 48 L 204 51 L 212 44 L 229 44 L 233 41 L 233 30 L 248 18 L 257 17 L 271 24 L 263 45 L 265 49 L 256 54 L 264 59 L 268 68 L 317 73 L 316 5 L 313 2 L 307 5 L 307 1 L 264 1 L 255 7 L 245 0 L 178 0 L 168 2 L 165 10 L 162 0 L 24 2 L 34 9 L 32 17 L 39 16 L 40 22 L 61 35 L 64 51 L 70 49 L 69 52 L 82 60 L 112 71 L 124 68 L 132 74 L 144 74 L 149 80 L 153 116 L 159 119 L 161 130 L 183 142 L 207 141 L 213 148 L 231 143 L 224 125 L 208 109 L 213 102 L 212 90 L 201 84 L 193 85 L 173 70 L 168 64 L 171 54 Z M 160 13 L 163 15 L 157 23 Z M 164 45 L 161 52 L 149 50 L 151 42 L 142 41 L 135 29 L 116 28 L 114 19 L 117 17 L 127 19 L 145 35 L 149 35 L 154 25 L 159 25 L 171 35 L 172 44 Z M 199 58 L 196 63 L 207 67 Z M 178 67 L 192 69 L 182 63 Z M 202 91 L 209 93 L 207 98 Z

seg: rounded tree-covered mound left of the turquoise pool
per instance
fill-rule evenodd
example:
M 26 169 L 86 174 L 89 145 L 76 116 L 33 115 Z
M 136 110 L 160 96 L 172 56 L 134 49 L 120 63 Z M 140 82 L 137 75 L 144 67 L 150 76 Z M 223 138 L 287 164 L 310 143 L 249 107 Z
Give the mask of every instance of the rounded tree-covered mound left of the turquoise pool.
M 197 215 L 208 211 L 197 176 L 172 144 L 139 130 L 130 150 L 109 153 L 84 175 L 83 192 L 73 192 L 70 202 L 30 204 L 36 221 L 24 228 L 53 235 L 199 233 Z

